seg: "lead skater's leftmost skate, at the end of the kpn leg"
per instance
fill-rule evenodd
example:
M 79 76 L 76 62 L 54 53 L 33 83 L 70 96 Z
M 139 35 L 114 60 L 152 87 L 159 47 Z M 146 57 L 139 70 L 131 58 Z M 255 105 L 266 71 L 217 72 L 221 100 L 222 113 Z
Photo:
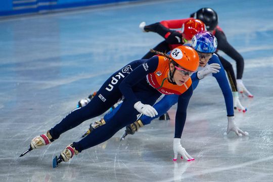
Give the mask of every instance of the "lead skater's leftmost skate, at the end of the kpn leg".
M 49 145 L 50 143 L 52 143 L 54 141 L 54 139 L 52 138 L 49 130 L 47 131 L 47 133 L 41 134 L 39 136 L 36 136 L 35 138 L 33 138 L 30 142 L 30 147 L 28 150 L 26 150 L 25 152 L 23 152 L 20 157 L 24 156 L 26 153 L 28 153 L 29 151 L 32 151 L 33 149 L 38 149 L 42 146 L 45 145 Z

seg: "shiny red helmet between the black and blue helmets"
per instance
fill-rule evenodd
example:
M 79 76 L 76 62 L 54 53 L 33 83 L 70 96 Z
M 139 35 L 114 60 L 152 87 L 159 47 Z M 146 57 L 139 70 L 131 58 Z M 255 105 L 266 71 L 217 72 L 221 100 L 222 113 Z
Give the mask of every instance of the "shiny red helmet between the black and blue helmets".
M 205 30 L 206 25 L 201 20 L 191 19 L 182 25 L 181 33 L 186 40 L 191 40 L 195 34 Z

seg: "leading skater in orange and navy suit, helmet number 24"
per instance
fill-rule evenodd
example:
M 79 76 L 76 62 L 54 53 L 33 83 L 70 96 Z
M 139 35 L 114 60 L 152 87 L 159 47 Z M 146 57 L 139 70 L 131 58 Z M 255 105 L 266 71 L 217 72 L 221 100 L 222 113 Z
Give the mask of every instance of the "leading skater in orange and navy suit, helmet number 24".
M 188 161 L 194 160 L 181 146 L 180 138 L 193 94 L 191 75 L 199 65 L 198 53 L 193 48 L 182 45 L 172 50 L 170 56 L 159 52 L 157 54 L 159 55 L 149 60 L 133 61 L 115 72 L 86 106 L 73 110 L 47 133 L 32 139 L 30 150 L 48 145 L 65 131 L 103 114 L 123 96 L 123 104 L 114 116 L 107 123 L 98 123 L 100 127 L 79 142 L 68 145 L 53 160 L 53 167 L 56 167 L 82 150 L 107 141 L 118 130 L 133 123 L 138 114 L 156 116 L 157 111 L 152 106 L 160 95 L 175 94 L 179 97 L 173 140 L 174 159 L 180 154 Z

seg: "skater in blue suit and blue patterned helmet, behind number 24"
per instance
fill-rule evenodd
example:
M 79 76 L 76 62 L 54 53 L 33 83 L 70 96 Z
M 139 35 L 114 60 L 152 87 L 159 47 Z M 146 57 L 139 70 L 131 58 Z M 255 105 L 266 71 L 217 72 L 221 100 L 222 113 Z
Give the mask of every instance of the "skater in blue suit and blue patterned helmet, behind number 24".
M 226 129 L 226 134 L 230 131 L 234 131 L 237 135 L 248 135 L 248 132 L 242 131 L 235 123 L 234 120 L 234 110 L 233 104 L 234 98 L 233 94 L 228 82 L 228 78 L 226 78 L 226 74 L 224 69 L 219 61 L 219 58 L 214 52 L 217 48 L 216 37 L 212 35 L 212 33 L 208 31 L 202 31 L 193 36 L 193 42 L 187 43 L 185 45 L 189 45 L 197 51 L 199 55 L 199 68 L 198 71 L 191 76 L 193 89 L 195 89 L 201 79 L 206 76 L 215 77 L 218 82 L 219 87 L 221 88 L 225 106 L 226 106 L 226 114 L 228 116 L 228 128 Z M 159 102 L 157 102 L 153 107 L 158 112 L 158 115 L 161 116 L 166 113 L 174 104 L 176 104 L 178 100 L 177 95 L 165 95 Z M 104 118 L 100 121 L 96 121 L 92 123 L 87 130 L 87 132 L 83 135 L 87 135 L 92 132 L 98 126 L 100 122 L 108 122 L 108 120 L 115 114 L 115 112 L 119 109 L 120 106 L 117 106 L 112 112 L 107 113 Z M 148 117 L 142 116 L 138 121 L 126 126 L 125 135 L 126 134 L 134 134 L 135 131 L 138 131 L 140 127 L 144 125 L 150 124 L 151 121 L 158 116 Z M 125 136 L 124 135 L 124 136 Z M 124 137 L 123 137 L 124 138 Z M 123 139 L 122 138 L 122 139 Z

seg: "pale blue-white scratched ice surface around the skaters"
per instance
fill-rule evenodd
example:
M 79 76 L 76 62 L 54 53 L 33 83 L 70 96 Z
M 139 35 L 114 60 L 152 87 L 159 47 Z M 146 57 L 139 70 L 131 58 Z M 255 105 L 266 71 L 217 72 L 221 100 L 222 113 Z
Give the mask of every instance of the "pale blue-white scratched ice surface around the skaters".
M 122 129 L 56 169 L 52 158 L 99 118 L 19 158 L 34 136 L 163 40 L 141 32 L 140 22 L 188 18 L 202 7 L 218 13 L 219 26 L 245 59 L 243 81 L 254 98 L 240 97 L 248 111 L 235 111 L 235 119 L 248 137 L 223 135 L 224 100 L 207 77 L 190 101 L 181 138 L 193 162 L 172 161 L 176 106 L 170 121 L 154 120 L 119 142 Z M 269 0 L 155 1 L 0 21 L 0 181 L 273 181 L 272 12 Z

